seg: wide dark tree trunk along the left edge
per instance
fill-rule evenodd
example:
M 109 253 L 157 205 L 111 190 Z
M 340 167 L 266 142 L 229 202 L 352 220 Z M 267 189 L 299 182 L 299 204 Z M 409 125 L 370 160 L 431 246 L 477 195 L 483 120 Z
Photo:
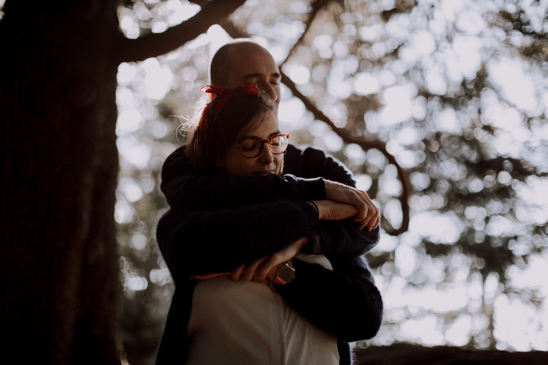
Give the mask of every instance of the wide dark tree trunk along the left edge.
M 119 364 L 116 2 L 4 11 L 2 345 L 25 363 Z

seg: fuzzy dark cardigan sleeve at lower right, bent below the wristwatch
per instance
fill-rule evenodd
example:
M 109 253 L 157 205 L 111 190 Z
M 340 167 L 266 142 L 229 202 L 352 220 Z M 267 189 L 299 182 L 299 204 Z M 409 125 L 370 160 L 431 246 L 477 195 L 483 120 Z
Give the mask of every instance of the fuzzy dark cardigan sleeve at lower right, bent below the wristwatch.
M 294 260 L 295 278 L 278 292 L 303 317 L 339 340 L 373 338 L 383 321 L 383 300 L 361 256 L 329 258 L 333 271 Z

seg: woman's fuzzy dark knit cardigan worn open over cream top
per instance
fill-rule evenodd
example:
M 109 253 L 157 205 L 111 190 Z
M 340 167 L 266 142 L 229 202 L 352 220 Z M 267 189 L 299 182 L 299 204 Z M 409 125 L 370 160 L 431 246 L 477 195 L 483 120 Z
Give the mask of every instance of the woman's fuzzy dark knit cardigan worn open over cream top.
M 249 221 L 262 222 L 250 224 Z M 284 229 L 294 221 L 300 229 Z M 302 201 L 276 201 L 233 209 L 185 212 L 172 209 L 158 223 L 157 240 L 175 280 L 175 294 L 157 363 L 184 359 L 192 291 L 191 275 L 231 271 L 276 252 L 309 231 L 317 213 Z M 300 315 L 338 339 L 341 364 L 350 364 L 347 341 L 372 338 L 382 320 L 382 301 L 361 257 L 327 255 L 333 271 L 294 260 L 295 278 L 278 292 Z M 237 335 L 237 333 L 235 333 Z M 182 350 L 181 351 L 181 347 Z

